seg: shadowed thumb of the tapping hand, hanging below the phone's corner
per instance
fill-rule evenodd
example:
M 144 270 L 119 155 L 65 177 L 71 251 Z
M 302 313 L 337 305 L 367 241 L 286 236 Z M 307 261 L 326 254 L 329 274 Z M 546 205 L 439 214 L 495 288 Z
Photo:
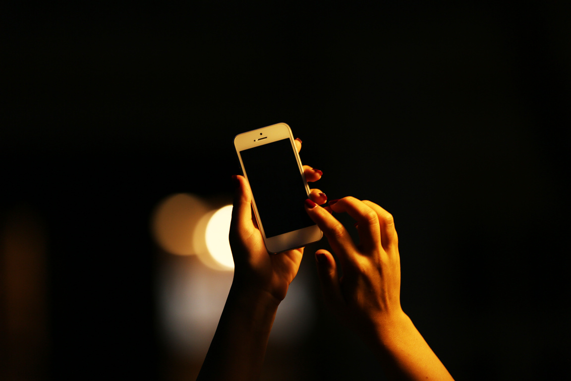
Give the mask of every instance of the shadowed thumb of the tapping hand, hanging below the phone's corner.
M 315 252 L 315 261 L 317 262 L 317 275 L 319 275 L 325 304 L 342 315 L 343 297 L 341 296 L 339 274 L 335 259 L 333 259 L 333 255 L 329 251 L 317 250 Z

